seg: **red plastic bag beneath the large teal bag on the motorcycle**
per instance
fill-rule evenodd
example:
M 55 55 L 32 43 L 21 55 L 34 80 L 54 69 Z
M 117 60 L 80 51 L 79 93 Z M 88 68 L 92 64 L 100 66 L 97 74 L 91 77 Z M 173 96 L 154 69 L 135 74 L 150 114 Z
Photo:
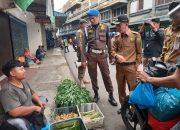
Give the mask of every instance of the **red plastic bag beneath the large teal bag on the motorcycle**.
M 169 121 L 161 122 L 148 113 L 148 124 L 152 130 L 170 130 L 178 121 L 180 121 L 180 116 Z

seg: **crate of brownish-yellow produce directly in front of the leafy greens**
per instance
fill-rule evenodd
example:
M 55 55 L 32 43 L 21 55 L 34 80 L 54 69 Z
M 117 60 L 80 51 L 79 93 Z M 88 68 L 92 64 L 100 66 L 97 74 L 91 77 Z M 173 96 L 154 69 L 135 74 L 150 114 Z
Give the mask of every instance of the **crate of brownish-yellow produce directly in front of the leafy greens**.
M 78 112 L 77 106 L 55 108 L 53 113 L 52 113 L 52 122 L 57 122 L 55 120 L 57 114 L 61 115 L 61 114 L 68 114 L 68 113 L 71 113 L 71 112 L 78 114 L 78 117 L 79 117 L 79 112 Z M 59 121 L 63 121 L 63 120 L 59 120 Z

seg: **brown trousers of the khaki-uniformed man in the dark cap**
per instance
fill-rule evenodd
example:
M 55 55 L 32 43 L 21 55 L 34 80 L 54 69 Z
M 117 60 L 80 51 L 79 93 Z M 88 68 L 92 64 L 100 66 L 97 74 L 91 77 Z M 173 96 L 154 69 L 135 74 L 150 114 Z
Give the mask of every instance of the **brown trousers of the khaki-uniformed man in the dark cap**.
M 129 91 L 136 86 L 136 65 L 116 64 L 116 79 L 118 84 L 119 101 L 122 104 L 126 97 L 126 82 Z

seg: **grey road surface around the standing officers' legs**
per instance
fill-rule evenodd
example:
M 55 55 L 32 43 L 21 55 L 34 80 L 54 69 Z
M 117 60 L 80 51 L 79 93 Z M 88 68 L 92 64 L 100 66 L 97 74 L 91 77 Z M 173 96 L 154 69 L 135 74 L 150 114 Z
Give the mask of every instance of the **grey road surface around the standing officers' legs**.
M 70 50 L 69 53 L 65 53 L 65 57 L 75 80 L 78 81 L 78 77 L 77 77 L 78 71 L 74 64 L 74 62 L 77 60 L 76 52 L 74 52 L 72 46 L 69 46 L 69 50 Z M 110 69 L 110 77 L 111 77 L 113 87 L 114 87 L 114 97 L 116 101 L 119 103 L 115 65 L 109 65 L 109 69 Z M 85 77 L 86 79 L 90 80 L 87 70 L 86 70 Z M 105 90 L 99 68 L 98 68 L 98 84 L 100 87 L 99 88 L 100 100 L 98 102 L 98 106 L 100 107 L 101 111 L 103 112 L 105 116 L 104 129 L 105 130 L 125 130 L 126 128 L 122 121 L 121 115 L 117 114 L 117 110 L 120 108 L 120 105 L 118 107 L 114 107 L 114 106 L 111 106 L 110 103 L 108 102 L 108 93 Z M 86 88 L 91 92 L 91 95 L 94 96 L 92 85 L 89 84 L 86 86 Z

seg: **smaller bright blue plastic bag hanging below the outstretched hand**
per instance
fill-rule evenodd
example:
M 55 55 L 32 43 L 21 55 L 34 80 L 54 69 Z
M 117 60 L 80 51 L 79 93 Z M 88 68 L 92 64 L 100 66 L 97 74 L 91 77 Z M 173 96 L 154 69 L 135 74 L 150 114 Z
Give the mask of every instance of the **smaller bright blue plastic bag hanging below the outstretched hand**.
M 152 84 L 139 82 L 129 97 L 129 103 L 138 105 L 140 109 L 153 107 L 155 97 Z

